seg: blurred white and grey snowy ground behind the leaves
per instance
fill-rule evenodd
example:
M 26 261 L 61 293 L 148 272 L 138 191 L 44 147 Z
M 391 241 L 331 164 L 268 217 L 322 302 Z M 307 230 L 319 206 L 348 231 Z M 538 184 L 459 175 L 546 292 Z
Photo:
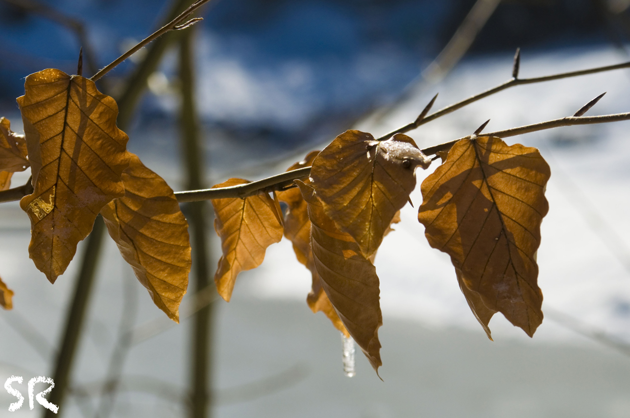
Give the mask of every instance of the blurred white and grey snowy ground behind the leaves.
M 627 57 L 604 48 L 525 51 L 521 76 L 623 60 Z M 505 81 L 510 73 L 508 55 L 469 60 L 383 123 L 365 122 L 358 128 L 379 136 L 414 120 L 437 92 L 436 109 Z M 492 131 L 572 115 L 604 91 L 608 94 L 588 115 L 629 111 L 630 71 L 513 88 L 410 136 L 427 146 L 467 135 L 488 118 L 487 130 Z M 19 127 L 17 118 L 12 121 Z M 260 268 L 239 276 L 229 305 L 215 304 L 216 416 L 630 416 L 630 359 L 570 329 L 605 332 L 630 343 L 629 128 L 626 121 L 507 138 L 508 144 L 539 147 L 552 171 L 547 186 L 550 210 L 538 252 L 546 319 L 534 339 L 501 315 L 490 323 L 495 342 L 486 339 L 461 295 L 448 257 L 431 249 L 424 238 L 416 219 L 422 200 L 418 187 L 411 196 L 416 209 L 403 209 L 403 222 L 386 237 L 376 259 L 384 316 L 379 330 L 384 383 L 360 354 L 358 375 L 343 376 L 338 333 L 322 314 L 312 315 L 306 307 L 309 273 L 283 240 L 268 249 Z M 149 139 L 132 135 L 131 148 L 178 188 L 175 160 L 163 157 L 177 154 L 174 141 L 155 140 L 157 151 L 149 151 Z M 215 155 L 214 183 L 226 179 L 217 172 L 239 170 L 232 160 L 216 157 L 214 147 L 234 155 L 241 152 L 243 172 L 250 179 L 285 169 L 302 156 L 255 172 L 255 151 L 229 142 L 210 142 L 209 147 Z M 420 184 L 428 172 L 417 174 Z M 25 181 L 17 177 L 15 184 Z M 28 259 L 28 221 L 16 204 L 0 206 L 0 234 L 0 274 L 16 293 L 14 310 L 0 312 L 0 380 L 50 375 L 52 347 L 63 326 L 77 263 L 49 285 Z M 77 254 L 82 249 L 79 246 Z M 136 324 L 161 317 L 133 280 L 117 249 L 108 244 L 74 369 L 81 387 L 89 389 L 89 383 L 106 373 L 125 297 L 131 301 L 127 307 L 137 308 Z M 189 324 L 183 320 L 132 349 L 123 383 L 135 391 L 120 395 L 113 416 L 182 416 L 175 401 L 188 375 Z M 26 385 L 15 387 L 26 393 Z M 6 408 L 13 400 L 0 393 L 0 416 L 38 412 L 25 405 L 9 414 Z M 64 412 L 69 417 L 91 416 L 90 408 L 72 403 Z

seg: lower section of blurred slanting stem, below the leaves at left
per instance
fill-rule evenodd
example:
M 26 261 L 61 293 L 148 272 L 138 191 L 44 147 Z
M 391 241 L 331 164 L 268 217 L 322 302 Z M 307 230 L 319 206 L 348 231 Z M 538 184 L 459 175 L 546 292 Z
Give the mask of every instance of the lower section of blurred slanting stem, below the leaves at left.
M 57 354 L 57 363 L 53 374 L 55 390 L 50 392 L 48 398 L 49 402 L 59 406 L 59 411 L 64 410 L 62 409 L 62 405 L 64 404 L 66 390 L 69 386 L 74 353 L 76 352 L 79 336 L 81 335 L 83 319 L 88 307 L 89 293 L 94 283 L 96 266 L 98 265 L 98 255 L 101 251 L 104 234 L 105 223 L 103 222 L 103 218 L 98 216 L 96 217 L 92 232 L 89 234 L 88 242 L 83 252 L 83 259 L 81 259 L 81 269 L 79 270 L 79 276 L 77 276 L 72 305 L 67 312 L 64 336 L 62 337 L 61 349 L 59 350 L 59 354 Z M 49 409 L 44 412 L 45 418 L 58 416 L 58 414 L 55 414 Z

